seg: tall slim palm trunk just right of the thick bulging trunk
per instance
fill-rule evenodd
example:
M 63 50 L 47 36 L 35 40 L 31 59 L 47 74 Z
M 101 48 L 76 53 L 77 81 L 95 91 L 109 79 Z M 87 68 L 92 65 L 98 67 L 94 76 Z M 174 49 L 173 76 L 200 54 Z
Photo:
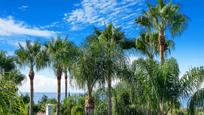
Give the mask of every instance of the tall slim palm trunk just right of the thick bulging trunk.
M 108 115 L 112 115 L 112 87 L 111 87 L 111 76 L 108 76 Z

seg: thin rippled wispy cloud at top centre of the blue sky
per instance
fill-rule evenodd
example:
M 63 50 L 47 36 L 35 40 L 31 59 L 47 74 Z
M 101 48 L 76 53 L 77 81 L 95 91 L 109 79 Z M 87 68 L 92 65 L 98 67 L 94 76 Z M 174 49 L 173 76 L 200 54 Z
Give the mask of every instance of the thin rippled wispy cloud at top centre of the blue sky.
M 104 26 L 113 23 L 118 27 L 132 27 L 141 13 L 144 0 L 82 0 L 80 8 L 65 14 L 73 30 L 86 25 Z M 81 26 L 84 25 L 84 26 Z

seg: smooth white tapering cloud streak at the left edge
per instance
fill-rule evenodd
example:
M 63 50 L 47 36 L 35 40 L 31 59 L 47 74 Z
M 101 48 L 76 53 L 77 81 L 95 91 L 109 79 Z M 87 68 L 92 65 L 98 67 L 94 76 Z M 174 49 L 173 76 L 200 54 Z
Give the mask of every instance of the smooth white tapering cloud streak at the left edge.
M 37 27 L 29 27 L 23 22 L 15 21 L 12 17 L 6 19 L 0 18 L 0 36 L 15 35 L 51 37 L 55 35 L 55 32 L 42 30 Z

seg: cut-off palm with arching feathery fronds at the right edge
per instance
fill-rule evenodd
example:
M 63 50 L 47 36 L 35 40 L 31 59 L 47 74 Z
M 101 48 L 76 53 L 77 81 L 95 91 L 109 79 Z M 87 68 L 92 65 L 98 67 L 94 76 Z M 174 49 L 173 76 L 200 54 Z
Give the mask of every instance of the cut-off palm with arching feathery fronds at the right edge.
M 203 107 L 203 88 L 200 89 L 204 81 L 204 67 L 194 67 L 187 71 L 181 78 L 181 96 L 189 97 L 188 113 L 195 114 L 197 107 Z

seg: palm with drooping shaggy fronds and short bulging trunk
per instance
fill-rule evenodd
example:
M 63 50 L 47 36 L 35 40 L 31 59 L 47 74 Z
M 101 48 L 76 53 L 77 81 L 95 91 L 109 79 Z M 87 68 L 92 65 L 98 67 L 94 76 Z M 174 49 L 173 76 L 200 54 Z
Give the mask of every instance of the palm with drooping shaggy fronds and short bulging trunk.
M 88 36 L 85 45 L 82 47 L 79 59 L 74 65 L 74 76 L 77 83 L 81 87 L 86 86 L 88 90 L 88 96 L 85 100 L 86 115 L 94 114 L 92 91 L 94 85 L 102 78 L 103 74 L 103 71 L 100 71 L 103 67 L 101 50 L 97 35 Z

